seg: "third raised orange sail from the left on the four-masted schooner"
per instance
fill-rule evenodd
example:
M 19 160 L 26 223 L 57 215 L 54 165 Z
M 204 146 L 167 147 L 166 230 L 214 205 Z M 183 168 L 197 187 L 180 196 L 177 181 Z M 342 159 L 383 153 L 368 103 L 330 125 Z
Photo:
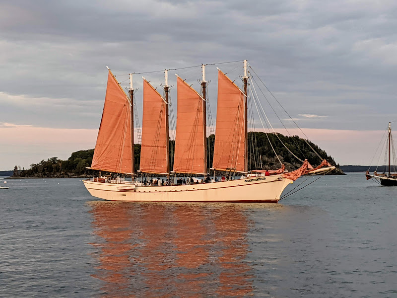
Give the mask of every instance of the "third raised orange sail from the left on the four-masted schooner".
M 178 110 L 175 136 L 174 172 L 204 174 L 204 99 L 179 76 L 177 77 Z

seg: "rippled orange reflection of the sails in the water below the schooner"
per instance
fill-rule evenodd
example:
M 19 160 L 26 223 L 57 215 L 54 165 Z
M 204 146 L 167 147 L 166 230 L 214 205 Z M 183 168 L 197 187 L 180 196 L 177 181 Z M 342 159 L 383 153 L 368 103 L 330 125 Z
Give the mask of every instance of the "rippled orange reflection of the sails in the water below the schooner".
M 109 297 L 243 296 L 248 221 L 237 205 L 92 202 L 95 278 Z

